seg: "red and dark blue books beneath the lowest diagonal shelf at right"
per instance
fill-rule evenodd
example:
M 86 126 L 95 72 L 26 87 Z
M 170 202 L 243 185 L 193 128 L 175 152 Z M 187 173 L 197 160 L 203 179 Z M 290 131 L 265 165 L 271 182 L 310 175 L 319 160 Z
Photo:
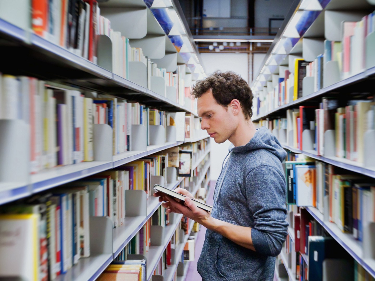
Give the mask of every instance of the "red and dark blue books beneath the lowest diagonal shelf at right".
M 306 209 L 288 212 L 293 215 L 295 240 L 288 235 L 282 251 L 296 280 L 375 280 Z

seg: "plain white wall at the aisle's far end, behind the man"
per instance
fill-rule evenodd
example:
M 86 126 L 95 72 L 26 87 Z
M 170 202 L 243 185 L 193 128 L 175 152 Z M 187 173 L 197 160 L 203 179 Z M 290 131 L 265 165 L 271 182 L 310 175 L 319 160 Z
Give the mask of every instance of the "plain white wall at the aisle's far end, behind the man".
M 205 66 L 205 73 L 209 75 L 215 70 L 228 71 L 232 70 L 242 76 L 248 81 L 248 54 L 212 54 L 202 53 L 201 58 Z M 211 139 L 211 180 L 216 181 L 219 177 L 221 166 L 226 154 L 228 154 L 228 147 L 231 143 L 226 141 L 224 143 L 216 143 Z

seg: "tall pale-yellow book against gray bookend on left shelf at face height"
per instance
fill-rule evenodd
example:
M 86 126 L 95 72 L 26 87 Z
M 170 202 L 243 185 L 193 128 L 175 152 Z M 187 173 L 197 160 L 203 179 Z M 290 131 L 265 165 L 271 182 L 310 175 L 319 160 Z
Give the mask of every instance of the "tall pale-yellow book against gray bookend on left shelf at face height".
M 93 100 L 89 97 L 84 98 L 83 103 L 83 147 L 84 147 L 84 161 L 94 160 L 93 150 L 93 135 L 94 135 L 94 124 L 93 124 Z

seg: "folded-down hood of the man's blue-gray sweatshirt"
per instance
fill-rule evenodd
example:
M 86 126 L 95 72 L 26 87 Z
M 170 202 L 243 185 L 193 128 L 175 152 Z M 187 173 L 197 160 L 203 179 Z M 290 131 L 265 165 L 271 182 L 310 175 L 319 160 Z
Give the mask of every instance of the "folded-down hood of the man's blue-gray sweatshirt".
M 287 156 L 287 152 L 282 148 L 279 140 L 266 127 L 257 129 L 254 137 L 246 145 L 234 146 L 231 144 L 229 146 L 229 151 L 234 153 L 247 153 L 256 149 L 267 149 L 276 155 L 281 162 Z

